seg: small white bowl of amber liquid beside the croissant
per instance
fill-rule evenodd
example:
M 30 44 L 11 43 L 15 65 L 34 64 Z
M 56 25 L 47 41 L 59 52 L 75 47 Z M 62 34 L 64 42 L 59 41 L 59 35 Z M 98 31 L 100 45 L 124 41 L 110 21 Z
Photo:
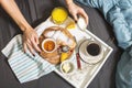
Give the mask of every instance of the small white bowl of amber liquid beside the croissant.
M 45 53 L 53 53 L 56 51 L 56 48 L 57 48 L 57 44 L 56 44 L 56 41 L 53 38 L 45 38 L 42 42 L 42 50 Z

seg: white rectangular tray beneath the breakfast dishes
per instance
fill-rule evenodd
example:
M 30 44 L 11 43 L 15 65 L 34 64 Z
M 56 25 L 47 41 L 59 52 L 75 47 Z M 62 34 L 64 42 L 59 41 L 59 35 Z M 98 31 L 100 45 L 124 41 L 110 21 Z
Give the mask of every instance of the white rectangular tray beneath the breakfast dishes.
M 57 26 L 63 26 L 65 28 L 67 25 L 67 23 L 69 23 L 70 21 L 73 21 L 73 19 L 68 18 L 64 24 L 62 25 L 57 25 Z M 41 33 L 50 26 L 56 25 L 51 21 L 51 18 L 48 18 L 45 22 L 41 23 L 35 30 L 37 31 L 38 35 L 41 35 Z M 75 53 L 72 56 L 72 58 L 69 58 L 69 61 L 74 62 L 75 64 L 75 72 L 72 75 L 64 75 L 61 73 L 59 70 L 59 65 L 56 66 L 56 69 L 54 70 L 56 74 L 58 74 L 61 77 L 63 77 L 65 80 L 67 80 L 70 85 L 73 85 L 76 88 L 87 88 L 88 85 L 91 82 L 91 80 L 95 78 L 95 76 L 98 74 L 98 72 L 100 70 L 100 68 L 102 67 L 102 65 L 105 64 L 105 62 L 107 61 L 107 58 L 109 57 L 109 55 L 111 54 L 111 52 L 113 51 L 109 45 L 107 45 L 103 41 L 101 41 L 99 37 L 97 37 L 96 35 L 94 35 L 91 32 L 89 32 L 88 30 L 86 31 L 81 31 L 77 25 L 75 29 L 69 30 L 69 32 L 76 36 L 78 44 L 80 44 L 80 41 L 82 41 L 84 38 L 90 38 L 94 41 L 98 41 L 101 43 L 102 47 L 103 47 L 103 57 L 101 58 L 101 61 L 95 65 L 90 65 L 87 64 L 82 61 L 80 61 L 81 63 L 81 70 L 77 69 L 77 61 L 76 61 L 76 56 Z

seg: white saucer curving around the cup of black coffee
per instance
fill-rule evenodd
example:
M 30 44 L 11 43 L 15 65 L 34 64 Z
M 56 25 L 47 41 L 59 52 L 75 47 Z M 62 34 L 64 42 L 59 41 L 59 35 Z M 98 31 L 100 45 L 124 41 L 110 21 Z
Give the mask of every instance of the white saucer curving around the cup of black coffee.
M 88 54 L 86 53 L 86 45 L 88 45 L 90 42 L 91 42 L 91 41 L 86 40 L 86 41 L 84 41 L 84 42 L 80 44 L 80 46 L 79 46 L 79 55 L 80 55 L 81 59 L 82 59 L 85 63 L 88 63 L 88 64 L 97 64 L 97 63 L 99 63 L 99 62 L 102 59 L 102 57 L 103 57 L 103 48 L 102 48 L 102 46 L 101 46 L 101 52 L 100 52 L 100 54 L 97 55 L 97 56 L 88 55 Z M 92 41 L 92 42 L 94 42 L 94 41 Z

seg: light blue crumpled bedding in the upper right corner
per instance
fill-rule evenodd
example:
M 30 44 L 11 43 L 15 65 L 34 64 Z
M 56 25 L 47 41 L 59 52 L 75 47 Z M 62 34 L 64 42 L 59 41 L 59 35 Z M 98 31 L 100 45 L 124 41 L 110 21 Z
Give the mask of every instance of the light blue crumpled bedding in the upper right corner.
M 113 26 L 118 44 L 122 48 L 132 45 L 132 0 L 76 0 L 99 9 Z

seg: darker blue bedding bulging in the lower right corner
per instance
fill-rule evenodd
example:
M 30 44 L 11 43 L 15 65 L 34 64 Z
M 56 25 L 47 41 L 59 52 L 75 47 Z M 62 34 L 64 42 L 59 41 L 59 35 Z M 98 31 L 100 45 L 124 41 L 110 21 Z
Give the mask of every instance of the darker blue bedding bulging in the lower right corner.
M 132 88 L 132 47 L 122 54 L 117 68 L 117 88 Z

